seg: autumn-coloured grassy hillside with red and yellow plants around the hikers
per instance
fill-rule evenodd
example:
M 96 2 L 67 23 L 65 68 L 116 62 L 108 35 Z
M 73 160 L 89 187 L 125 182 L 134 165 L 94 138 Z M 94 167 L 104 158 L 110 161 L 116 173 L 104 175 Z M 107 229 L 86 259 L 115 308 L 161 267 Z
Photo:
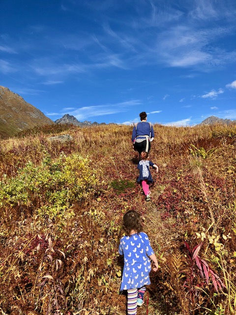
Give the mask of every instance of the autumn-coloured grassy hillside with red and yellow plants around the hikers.
M 129 209 L 160 263 L 148 314 L 236 314 L 236 127 L 154 130 L 150 202 L 131 126 L 71 127 L 69 142 L 38 128 L 0 142 L 1 314 L 124 315 L 118 242 Z

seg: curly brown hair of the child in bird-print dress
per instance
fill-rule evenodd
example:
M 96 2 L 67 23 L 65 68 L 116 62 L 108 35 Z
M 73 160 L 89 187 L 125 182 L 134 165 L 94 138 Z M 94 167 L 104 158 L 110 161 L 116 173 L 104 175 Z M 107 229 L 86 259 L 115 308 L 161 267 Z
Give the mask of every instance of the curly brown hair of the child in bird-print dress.
M 126 235 L 130 235 L 132 230 L 140 233 L 143 230 L 141 215 L 135 210 L 127 211 L 123 216 L 122 227 Z

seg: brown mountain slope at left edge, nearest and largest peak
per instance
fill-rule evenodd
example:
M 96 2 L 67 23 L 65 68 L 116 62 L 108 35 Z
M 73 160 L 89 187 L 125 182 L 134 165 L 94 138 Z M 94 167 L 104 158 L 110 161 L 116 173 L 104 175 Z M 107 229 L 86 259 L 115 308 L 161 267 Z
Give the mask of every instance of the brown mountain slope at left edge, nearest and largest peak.
M 34 126 L 53 125 L 39 109 L 23 97 L 0 86 L 0 138 L 6 139 L 17 132 Z

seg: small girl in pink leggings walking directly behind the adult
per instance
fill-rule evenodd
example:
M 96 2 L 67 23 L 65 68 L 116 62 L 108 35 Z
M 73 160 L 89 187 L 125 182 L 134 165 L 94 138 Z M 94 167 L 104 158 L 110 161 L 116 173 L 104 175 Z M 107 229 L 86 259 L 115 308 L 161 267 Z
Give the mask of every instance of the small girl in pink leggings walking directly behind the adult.
M 158 172 L 158 166 L 148 160 L 148 152 L 141 152 L 141 160 L 138 164 L 139 177 L 137 179 L 137 182 L 141 182 L 142 184 L 142 188 L 146 196 L 146 201 L 150 201 L 149 184 L 153 182 L 150 172 L 150 166 L 155 168 L 156 172 Z

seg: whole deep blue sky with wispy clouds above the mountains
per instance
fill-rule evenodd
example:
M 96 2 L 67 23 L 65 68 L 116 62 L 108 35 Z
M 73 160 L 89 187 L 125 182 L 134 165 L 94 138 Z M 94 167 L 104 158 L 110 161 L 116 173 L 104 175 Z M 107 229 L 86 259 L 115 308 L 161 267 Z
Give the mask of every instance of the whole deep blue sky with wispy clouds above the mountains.
M 53 121 L 236 119 L 235 0 L 0 4 L 0 85 Z

